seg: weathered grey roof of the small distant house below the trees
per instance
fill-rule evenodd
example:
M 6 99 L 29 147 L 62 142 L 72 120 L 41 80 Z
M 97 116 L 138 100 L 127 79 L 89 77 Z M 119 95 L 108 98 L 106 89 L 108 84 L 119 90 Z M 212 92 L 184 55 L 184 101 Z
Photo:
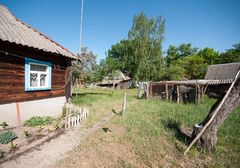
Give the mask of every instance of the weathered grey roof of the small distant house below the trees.
M 101 85 L 116 84 L 122 81 L 128 81 L 131 78 L 124 75 L 121 71 L 116 71 L 112 77 L 105 76 L 101 82 Z

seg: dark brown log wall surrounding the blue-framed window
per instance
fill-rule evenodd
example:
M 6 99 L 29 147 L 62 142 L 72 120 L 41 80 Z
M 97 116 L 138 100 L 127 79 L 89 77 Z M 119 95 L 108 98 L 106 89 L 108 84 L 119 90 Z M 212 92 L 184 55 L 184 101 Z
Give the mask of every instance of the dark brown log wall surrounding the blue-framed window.
M 70 88 L 66 88 L 71 86 L 69 58 L 3 41 L 0 50 L 9 53 L 0 52 L 0 104 L 66 96 L 66 91 L 69 92 Z M 51 90 L 25 92 L 25 59 L 11 54 L 51 62 Z

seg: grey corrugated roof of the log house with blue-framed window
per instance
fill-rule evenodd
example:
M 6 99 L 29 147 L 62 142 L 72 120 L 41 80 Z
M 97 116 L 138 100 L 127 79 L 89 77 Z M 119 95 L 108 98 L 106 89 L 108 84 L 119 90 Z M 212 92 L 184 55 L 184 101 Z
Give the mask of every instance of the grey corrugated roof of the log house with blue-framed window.
M 0 40 L 79 59 L 68 49 L 17 19 L 3 5 L 0 5 Z

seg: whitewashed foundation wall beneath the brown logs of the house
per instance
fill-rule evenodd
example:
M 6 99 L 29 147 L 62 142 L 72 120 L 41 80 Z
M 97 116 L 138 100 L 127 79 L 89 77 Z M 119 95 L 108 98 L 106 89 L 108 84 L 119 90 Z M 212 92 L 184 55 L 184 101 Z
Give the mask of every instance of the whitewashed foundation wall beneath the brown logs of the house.
M 18 103 L 21 124 L 33 116 L 57 116 L 62 113 L 65 96 Z M 17 103 L 0 105 L 0 123 L 18 126 Z

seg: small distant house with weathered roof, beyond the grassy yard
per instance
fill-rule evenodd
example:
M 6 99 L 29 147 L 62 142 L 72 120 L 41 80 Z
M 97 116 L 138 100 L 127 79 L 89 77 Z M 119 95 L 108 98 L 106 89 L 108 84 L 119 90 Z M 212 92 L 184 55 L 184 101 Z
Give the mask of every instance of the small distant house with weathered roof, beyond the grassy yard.
M 130 77 L 124 75 L 121 71 L 116 71 L 113 76 L 105 76 L 100 84 L 101 87 L 126 89 L 129 88 Z

